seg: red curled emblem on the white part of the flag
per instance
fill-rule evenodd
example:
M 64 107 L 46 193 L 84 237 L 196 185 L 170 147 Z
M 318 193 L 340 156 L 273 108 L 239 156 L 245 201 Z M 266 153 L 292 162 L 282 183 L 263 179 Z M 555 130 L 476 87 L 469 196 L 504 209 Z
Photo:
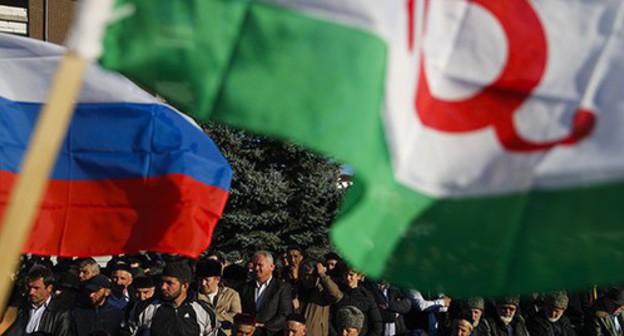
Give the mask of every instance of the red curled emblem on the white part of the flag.
M 572 145 L 593 130 L 596 115 L 582 107 L 575 112 L 572 129 L 563 138 L 534 142 L 523 138 L 513 121 L 514 113 L 531 96 L 542 80 L 548 53 L 544 27 L 528 0 L 468 0 L 489 11 L 503 27 L 508 41 L 508 57 L 500 75 L 469 98 L 445 100 L 435 97 L 429 87 L 425 56 L 420 61 L 420 77 L 415 107 L 421 122 L 430 128 L 470 132 L 493 126 L 500 143 L 510 151 L 543 151 L 557 145 Z M 413 0 L 408 4 L 408 46 L 412 46 Z M 428 6 L 427 6 L 428 7 Z

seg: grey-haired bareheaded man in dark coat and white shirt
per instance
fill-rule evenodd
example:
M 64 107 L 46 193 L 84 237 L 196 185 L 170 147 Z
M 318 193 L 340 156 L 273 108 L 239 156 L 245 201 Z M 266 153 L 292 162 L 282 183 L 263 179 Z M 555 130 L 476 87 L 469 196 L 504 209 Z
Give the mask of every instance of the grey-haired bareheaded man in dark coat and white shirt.
M 270 252 L 258 251 L 252 261 L 254 279 L 240 291 L 243 313 L 254 316 L 256 334 L 279 335 L 293 312 L 291 288 L 273 277 L 275 262 Z

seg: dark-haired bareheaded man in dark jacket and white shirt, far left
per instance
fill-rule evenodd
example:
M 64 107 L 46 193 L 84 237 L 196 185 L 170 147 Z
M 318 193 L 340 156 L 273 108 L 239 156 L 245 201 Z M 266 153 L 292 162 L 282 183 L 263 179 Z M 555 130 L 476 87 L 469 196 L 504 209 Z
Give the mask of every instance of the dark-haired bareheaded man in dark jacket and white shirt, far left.
M 5 335 L 75 335 L 71 313 L 52 298 L 54 273 L 45 266 L 35 265 L 26 275 L 26 284 L 28 303 L 19 308 L 15 322 Z

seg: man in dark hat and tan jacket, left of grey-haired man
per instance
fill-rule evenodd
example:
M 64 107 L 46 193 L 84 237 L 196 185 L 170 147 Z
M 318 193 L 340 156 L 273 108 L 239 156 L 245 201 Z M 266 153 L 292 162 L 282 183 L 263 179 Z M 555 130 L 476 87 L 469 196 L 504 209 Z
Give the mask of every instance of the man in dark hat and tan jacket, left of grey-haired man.
M 229 335 L 234 316 L 242 313 L 240 296 L 232 288 L 221 283 L 223 265 L 212 259 L 200 260 L 196 265 L 197 283 L 200 301 L 204 301 L 217 313 L 217 319 Z

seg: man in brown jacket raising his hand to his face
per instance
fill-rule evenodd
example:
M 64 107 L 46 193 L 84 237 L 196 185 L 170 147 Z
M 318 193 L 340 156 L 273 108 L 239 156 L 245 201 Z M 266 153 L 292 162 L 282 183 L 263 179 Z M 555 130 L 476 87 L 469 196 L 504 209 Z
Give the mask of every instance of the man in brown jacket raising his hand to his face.
M 299 266 L 299 303 L 307 334 L 328 335 L 330 306 L 342 299 L 338 285 L 317 260 L 306 259 Z

